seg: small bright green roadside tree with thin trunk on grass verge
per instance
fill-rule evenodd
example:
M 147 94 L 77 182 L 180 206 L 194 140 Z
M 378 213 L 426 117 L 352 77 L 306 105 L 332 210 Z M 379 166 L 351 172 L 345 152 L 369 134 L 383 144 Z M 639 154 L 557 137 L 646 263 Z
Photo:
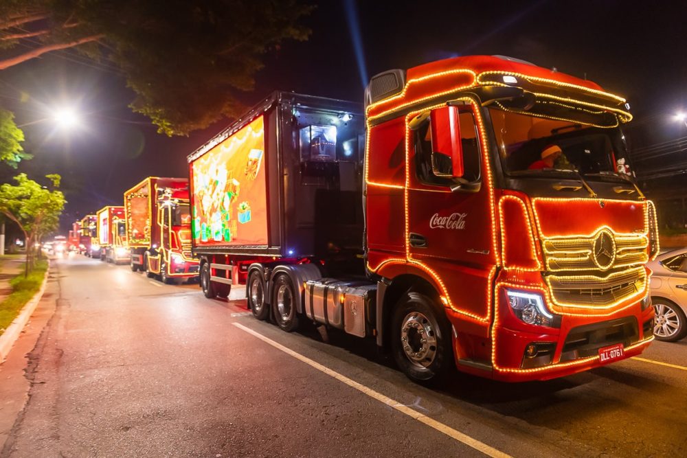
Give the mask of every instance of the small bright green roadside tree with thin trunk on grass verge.
M 53 188 L 60 186 L 58 174 L 46 175 Z M 21 173 L 14 177 L 16 185 L 0 185 L 0 213 L 16 222 L 24 233 L 26 242 L 26 265 L 24 275 L 28 275 L 33 266 L 32 252 L 34 243 L 41 240 L 49 231 L 58 227 L 58 222 L 65 208 L 65 196 L 54 189 L 49 190 Z

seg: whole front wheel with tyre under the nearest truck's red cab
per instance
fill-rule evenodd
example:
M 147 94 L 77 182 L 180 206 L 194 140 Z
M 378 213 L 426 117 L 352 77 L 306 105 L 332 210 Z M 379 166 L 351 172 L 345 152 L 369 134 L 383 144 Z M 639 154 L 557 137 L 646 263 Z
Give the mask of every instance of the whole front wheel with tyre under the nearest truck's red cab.
M 410 291 L 392 315 L 392 351 L 396 364 L 408 378 L 430 384 L 445 376 L 453 365 L 451 325 L 433 301 Z

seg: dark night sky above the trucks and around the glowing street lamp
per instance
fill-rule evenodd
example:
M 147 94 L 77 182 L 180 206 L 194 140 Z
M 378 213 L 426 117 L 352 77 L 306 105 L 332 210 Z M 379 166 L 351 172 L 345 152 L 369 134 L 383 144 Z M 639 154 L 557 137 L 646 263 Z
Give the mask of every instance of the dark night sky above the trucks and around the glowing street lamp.
M 244 95 L 246 104 L 275 89 L 362 101 L 365 81 L 375 73 L 453 56 L 501 54 L 586 76 L 623 95 L 633 123 L 655 126 L 651 141 L 687 135 L 687 127 L 671 118 L 687 110 L 684 2 L 320 3 L 305 21 L 311 38 L 285 42 L 265 56 L 256 90 Z M 69 201 L 63 231 L 104 205 L 120 205 L 124 190 L 146 176 L 188 176 L 185 157 L 229 124 L 225 119 L 189 137 L 168 138 L 131 113 L 132 99 L 111 62 L 89 62 L 74 51 L 0 71 L 0 105 L 14 111 L 20 126 L 33 123 L 23 130 L 25 150 L 35 157 L 20 171 L 63 175 Z M 35 122 L 45 117 L 42 105 L 61 101 L 78 102 L 88 113 L 82 130 L 65 135 Z M 1 167 L 3 179 L 15 173 Z

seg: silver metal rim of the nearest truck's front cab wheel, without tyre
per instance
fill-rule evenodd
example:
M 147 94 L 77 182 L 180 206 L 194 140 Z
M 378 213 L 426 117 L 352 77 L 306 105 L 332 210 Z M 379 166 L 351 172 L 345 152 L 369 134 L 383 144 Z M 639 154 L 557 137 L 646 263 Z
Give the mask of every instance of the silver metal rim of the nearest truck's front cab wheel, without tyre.
M 410 312 L 401 323 L 401 347 L 410 362 L 428 367 L 436 358 L 436 332 L 424 314 Z

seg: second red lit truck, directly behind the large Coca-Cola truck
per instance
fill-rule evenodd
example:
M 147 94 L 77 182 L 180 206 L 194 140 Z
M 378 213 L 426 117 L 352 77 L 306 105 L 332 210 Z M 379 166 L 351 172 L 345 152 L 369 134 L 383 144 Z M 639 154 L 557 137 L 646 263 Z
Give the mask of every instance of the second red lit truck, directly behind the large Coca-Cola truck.
M 198 277 L 191 255 L 188 179 L 150 176 L 124 193 L 131 270 L 169 283 Z

